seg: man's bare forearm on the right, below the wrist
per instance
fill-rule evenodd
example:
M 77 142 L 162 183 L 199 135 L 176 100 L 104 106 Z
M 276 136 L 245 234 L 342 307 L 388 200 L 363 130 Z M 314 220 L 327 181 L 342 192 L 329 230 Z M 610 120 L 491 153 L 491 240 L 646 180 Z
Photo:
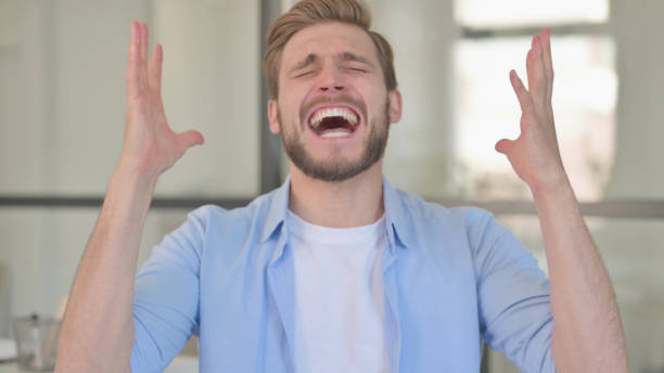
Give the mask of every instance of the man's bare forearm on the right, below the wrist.
M 551 349 L 560 372 L 628 372 L 609 273 L 566 178 L 533 191 L 551 281 Z

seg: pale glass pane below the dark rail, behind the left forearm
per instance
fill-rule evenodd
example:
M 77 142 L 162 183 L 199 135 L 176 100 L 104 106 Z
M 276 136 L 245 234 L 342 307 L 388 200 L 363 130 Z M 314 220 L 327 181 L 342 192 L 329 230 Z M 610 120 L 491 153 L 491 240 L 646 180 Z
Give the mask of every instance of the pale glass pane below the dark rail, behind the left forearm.
M 152 247 L 187 220 L 187 214 L 186 209 L 150 211 L 139 268 Z M 0 337 L 9 332 L 10 316 L 55 312 L 61 297 L 69 293 L 98 216 L 98 208 L 0 208 L 0 267 L 4 272 Z

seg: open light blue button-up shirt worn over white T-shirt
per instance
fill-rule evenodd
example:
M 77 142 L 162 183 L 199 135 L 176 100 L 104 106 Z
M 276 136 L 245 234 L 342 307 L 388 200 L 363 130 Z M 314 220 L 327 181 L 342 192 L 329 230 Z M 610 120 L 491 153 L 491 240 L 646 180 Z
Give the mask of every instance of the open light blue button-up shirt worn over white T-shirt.
M 201 372 L 293 372 L 290 179 L 248 206 L 204 206 L 136 279 L 132 372 L 161 372 L 192 334 Z M 482 344 L 554 372 L 549 282 L 493 216 L 445 208 L 383 179 L 391 372 L 478 372 Z

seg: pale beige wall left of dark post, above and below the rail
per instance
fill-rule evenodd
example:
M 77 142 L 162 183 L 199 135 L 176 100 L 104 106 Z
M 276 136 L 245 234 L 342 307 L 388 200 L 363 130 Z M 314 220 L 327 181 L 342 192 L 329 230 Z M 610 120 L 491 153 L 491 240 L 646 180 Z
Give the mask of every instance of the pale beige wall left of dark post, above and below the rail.
M 159 180 L 157 194 L 258 193 L 257 0 L 2 0 L 0 194 L 104 194 L 122 146 L 133 20 L 164 46 L 171 126 L 206 137 Z M 98 213 L 0 208 L 13 314 L 54 312 Z M 183 210 L 152 211 L 140 260 L 184 218 Z

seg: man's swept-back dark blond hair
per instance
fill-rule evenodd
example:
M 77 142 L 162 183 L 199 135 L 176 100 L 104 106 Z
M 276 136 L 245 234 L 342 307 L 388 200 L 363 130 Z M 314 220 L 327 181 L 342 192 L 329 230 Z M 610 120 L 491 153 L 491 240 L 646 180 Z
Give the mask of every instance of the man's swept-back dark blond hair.
M 382 35 L 369 29 L 371 14 L 365 4 L 359 0 L 302 0 L 277 17 L 267 30 L 267 51 L 263 57 L 263 72 L 267 79 L 270 99 L 277 99 L 279 94 L 281 53 L 286 42 L 303 28 L 330 21 L 355 25 L 367 31 L 378 50 L 385 87 L 388 91 L 397 88 L 392 47 Z

